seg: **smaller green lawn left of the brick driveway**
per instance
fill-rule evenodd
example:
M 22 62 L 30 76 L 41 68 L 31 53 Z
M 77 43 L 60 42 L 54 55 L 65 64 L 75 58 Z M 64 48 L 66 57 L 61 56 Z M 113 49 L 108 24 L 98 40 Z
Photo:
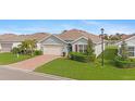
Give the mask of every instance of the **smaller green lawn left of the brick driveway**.
M 20 55 L 17 58 L 16 54 L 13 54 L 10 52 L 0 53 L 0 65 L 15 63 L 15 62 L 23 61 L 23 60 L 26 60 L 29 58 L 32 58 L 32 56 L 30 55 Z

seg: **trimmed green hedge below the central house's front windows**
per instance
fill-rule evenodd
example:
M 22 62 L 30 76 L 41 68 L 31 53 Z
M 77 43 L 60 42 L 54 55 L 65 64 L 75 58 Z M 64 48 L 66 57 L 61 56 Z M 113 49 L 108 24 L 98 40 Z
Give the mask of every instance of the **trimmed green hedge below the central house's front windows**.
M 78 62 L 94 62 L 96 60 L 96 55 L 88 56 L 85 53 L 70 52 L 70 59 Z

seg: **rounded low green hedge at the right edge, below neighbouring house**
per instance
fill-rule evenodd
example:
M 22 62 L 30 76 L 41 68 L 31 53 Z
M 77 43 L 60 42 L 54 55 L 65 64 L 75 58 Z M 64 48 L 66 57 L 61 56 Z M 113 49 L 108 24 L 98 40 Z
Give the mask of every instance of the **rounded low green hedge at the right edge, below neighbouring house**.
M 133 59 L 122 60 L 120 56 L 115 56 L 114 63 L 120 68 L 135 67 L 135 60 Z

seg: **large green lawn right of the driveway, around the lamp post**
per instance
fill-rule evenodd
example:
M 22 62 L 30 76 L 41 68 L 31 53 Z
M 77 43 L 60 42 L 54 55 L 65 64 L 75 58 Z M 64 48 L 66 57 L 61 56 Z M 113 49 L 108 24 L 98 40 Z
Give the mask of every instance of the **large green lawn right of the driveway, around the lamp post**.
M 135 79 L 135 68 L 118 68 L 113 65 L 116 54 L 115 47 L 108 47 L 105 51 L 105 66 L 101 67 L 100 55 L 96 63 L 82 63 L 69 59 L 57 59 L 38 68 L 36 72 L 90 80 L 132 80 Z

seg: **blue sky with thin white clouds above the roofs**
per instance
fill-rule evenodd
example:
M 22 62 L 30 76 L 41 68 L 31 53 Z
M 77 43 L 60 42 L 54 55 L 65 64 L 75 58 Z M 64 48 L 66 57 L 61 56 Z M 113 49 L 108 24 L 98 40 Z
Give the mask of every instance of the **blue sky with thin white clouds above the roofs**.
M 0 20 L 0 34 L 59 34 L 76 28 L 99 35 L 102 27 L 106 34 L 133 34 L 135 20 Z

